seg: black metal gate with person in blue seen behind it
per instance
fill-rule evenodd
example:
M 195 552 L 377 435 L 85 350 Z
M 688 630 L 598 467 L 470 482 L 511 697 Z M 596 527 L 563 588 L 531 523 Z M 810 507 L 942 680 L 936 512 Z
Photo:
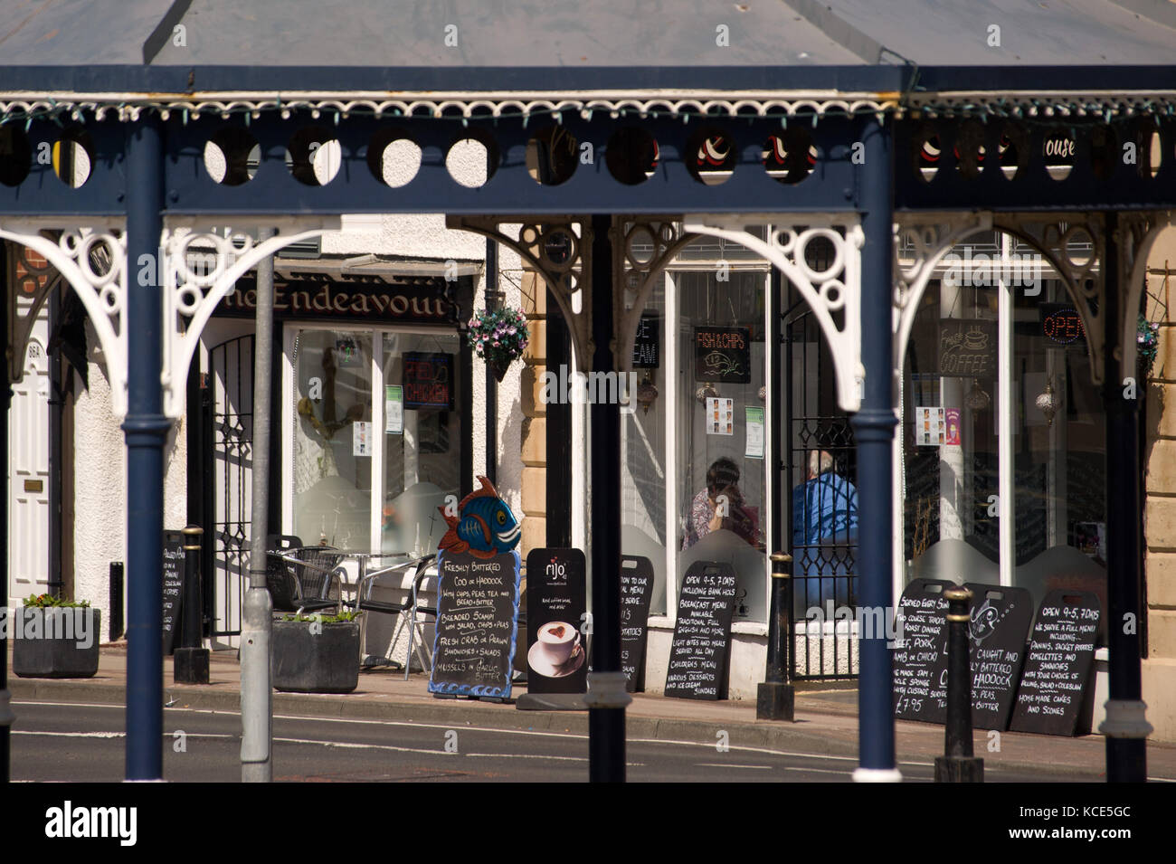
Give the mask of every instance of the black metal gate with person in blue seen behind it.
M 833 360 L 821 328 L 786 282 L 781 491 L 793 556 L 793 675 L 857 676 L 857 447 L 837 407 Z

